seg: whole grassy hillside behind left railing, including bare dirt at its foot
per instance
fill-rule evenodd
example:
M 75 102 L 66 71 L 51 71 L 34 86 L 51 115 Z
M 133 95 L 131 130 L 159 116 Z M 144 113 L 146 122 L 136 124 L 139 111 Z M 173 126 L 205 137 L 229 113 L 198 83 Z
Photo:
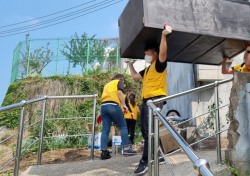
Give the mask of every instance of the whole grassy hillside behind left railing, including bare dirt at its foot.
M 9 86 L 2 106 L 45 95 L 97 94 L 97 110 L 99 110 L 102 89 L 113 75 L 114 73 L 101 73 L 84 76 L 28 77 Z M 125 78 L 125 92 L 132 91 L 137 95 L 137 99 L 140 99 L 140 82 L 133 81 L 130 75 L 125 75 Z M 17 135 L 15 134 L 18 131 L 20 112 L 20 108 L 15 108 L 0 113 L 0 127 L 4 129 L 4 133 L 0 134 L 0 141 L 4 141 L 0 144 L 0 166 L 3 166 L 15 156 L 17 143 Z M 42 102 L 26 105 L 24 114 L 22 151 L 25 150 L 25 152 L 22 155 L 25 157 L 21 162 L 21 170 L 36 162 L 41 129 Z M 93 99 L 48 99 L 46 101 L 46 121 L 44 124 L 43 162 L 58 163 L 61 160 L 77 160 L 76 156 L 73 158 L 66 157 L 69 151 L 79 153 L 79 158 L 89 155 L 86 155 L 83 151 L 87 148 L 90 131 L 86 127 L 88 123 L 92 123 L 92 115 Z M 102 127 L 98 126 L 98 128 L 100 130 Z M 138 129 L 137 127 L 137 131 Z M 99 154 L 97 155 L 99 156 Z M 65 157 L 63 158 L 63 156 Z M 0 175 L 13 173 L 13 164 L 12 162 L 11 165 L 1 171 Z

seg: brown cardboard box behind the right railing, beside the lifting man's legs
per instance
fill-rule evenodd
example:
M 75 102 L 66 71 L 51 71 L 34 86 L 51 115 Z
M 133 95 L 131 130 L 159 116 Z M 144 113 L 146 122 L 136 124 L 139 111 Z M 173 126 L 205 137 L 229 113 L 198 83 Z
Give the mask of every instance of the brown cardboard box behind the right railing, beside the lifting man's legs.
M 165 129 L 165 130 L 163 130 Z M 163 130 L 163 131 L 162 131 Z M 180 148 L 180 145 L 178 142 L 174 139 L 174 137 L 169 133 L 169 131 L 166 129 L 166 127 L 160 127 L 160 141 L 162 144 L 162 149 L 164 153 L 172 152 L 178 148 Z

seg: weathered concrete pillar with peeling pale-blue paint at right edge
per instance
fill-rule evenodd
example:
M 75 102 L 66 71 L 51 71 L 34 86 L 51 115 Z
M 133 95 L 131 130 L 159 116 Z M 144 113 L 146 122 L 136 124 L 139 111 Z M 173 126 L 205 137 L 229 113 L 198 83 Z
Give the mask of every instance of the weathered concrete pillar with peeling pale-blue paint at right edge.
M 230 95 L 229 145 L 226 159 L 240 173 L 250 174 L 250 74 L 234 73 Z

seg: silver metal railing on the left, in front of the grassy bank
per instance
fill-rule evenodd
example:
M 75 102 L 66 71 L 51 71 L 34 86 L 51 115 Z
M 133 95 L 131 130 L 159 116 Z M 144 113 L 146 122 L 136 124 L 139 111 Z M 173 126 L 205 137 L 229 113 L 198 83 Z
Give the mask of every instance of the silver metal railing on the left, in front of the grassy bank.
M 94 157 L 94 136 L 95 136 L 95 123 L 96 123 L 96 99 L 97 99 L 97 94 L 94 95 L 74 95 L 74 96 L 44 96 L 41 98 L 36 98 L 32 100 L 27 100 L 27 101 L 21 101 L 19 103 L 15 103 L 12 105 L 8 105 L 5 107 L 0 107 L 0 112 L 11 110 L 14 108 L 21 108 L 21 114 L 20 114 L 20 120 L 19 120 L 19 127 L 18 127 L 18 133 L 15 133 L 14 135 L 11 135 L 8 137 L 8 139 L 15 137 L 17 135 L 17 146 L 16 146 L 16 155 L 12 159 L 8 160 L 6 164 L 4 164 L 3 167 L 0 168 L 0 171 L 4 169 L 6 166 L 8 166 L 12 161 L 15 161 L 14 164 L 14 175 L 18 176 L 19 175 L 19 168 L 20 168 L 20 160 L 21 160 L 21 155 L 22 153 L 27 150 L 28 147 L 36 143 L 37 141 L 39 142 L 39 147 L 38 147 L 38 159 L 37 159 L 37 164 L 41 164 L 41 159 L 42 159 L 42 145 L 43 145 L 43 139 L 44 139 L 44 123 L 45 123 L 45 115 L 46 115 L 46 101 L 48 99 L 85 99 L 85 98 L 94 98 L 93 102 L 93 117 L 92 117 L 92 138 L 91 138 L 91 159 Z M 32 104 L 35 102 L 40 102 L 42 101 L 42 119 L 38 122 L 41 122 L 41 129 L 40 129 L 40 137 L 38 140 L 35 140 L 31 145 L 29 145 L 26 149 L 22 151 L 22 142 L 23 142 L 23 133 L 24 130 L 29 128 L 24 128 L 24 121 L 25 121 L 25 107 L 28 104 Z M 36 123 L 38 123 L 36 122 Z M 0 141 L 0 144 L 3 143 L 4 141 L 8 140 L 4 139 L 3 141 Z

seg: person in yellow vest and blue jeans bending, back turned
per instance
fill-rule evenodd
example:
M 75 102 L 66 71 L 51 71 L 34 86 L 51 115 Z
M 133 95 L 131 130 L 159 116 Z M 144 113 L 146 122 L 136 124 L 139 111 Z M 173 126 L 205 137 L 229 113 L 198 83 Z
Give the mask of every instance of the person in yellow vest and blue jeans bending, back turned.
M 107 83 L 102 92 L 101 97 L 101 118 L 102 118 L 102 135 L 101 135 L 101 159 L 111 158 L 108 148 L 108 136 L 111 123 L 114 122 L 121 130 L 122 153 L 131 154 L 132 151 L 129 145 L 128 128 L 122 111 L 127 111 L 123 95 L 124 76 L 116 74 L 109 83 Z M 121 107 L 123 110 L 121 109 Z

